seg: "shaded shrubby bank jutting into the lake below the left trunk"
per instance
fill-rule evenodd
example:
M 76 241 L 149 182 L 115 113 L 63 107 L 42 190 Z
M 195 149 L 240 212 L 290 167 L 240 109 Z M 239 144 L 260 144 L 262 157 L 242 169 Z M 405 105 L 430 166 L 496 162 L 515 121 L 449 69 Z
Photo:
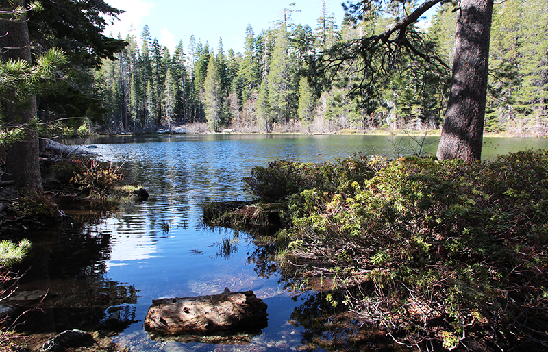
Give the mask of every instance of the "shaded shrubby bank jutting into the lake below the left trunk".
M 63 221 L 58 204 L 66 200 L 112 208 L 148 197 L 123 163 L 99 162 L 91 155 L 44 153 L 40 173 L 42 190 L 16 189 L 9 182 L 0 186 L 0 234 Z

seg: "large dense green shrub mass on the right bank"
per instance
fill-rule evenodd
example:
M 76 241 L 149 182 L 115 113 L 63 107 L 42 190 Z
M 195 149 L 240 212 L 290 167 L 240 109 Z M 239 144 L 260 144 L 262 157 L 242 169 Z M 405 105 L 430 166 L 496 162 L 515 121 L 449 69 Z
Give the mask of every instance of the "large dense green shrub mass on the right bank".
M 295 287 L 334 282 L 329 303 L 397 342 L 436 351 L 548 344 L 547 151 L 472 163 L 277 161 L 245 183 L 256 208 L 279 208 L 284 228 L 262 242 L 275 244 Z M 224 224 L 240 209 L 222 212 Z

